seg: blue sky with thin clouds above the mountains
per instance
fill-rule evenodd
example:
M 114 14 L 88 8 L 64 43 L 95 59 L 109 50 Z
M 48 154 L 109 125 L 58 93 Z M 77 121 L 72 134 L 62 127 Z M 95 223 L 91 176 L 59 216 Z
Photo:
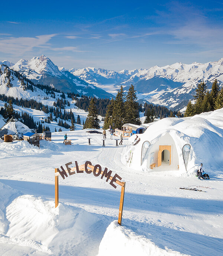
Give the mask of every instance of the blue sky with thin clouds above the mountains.
M 223 1 L 2 1 L 0 60 L 112 70 L 223 57 Z

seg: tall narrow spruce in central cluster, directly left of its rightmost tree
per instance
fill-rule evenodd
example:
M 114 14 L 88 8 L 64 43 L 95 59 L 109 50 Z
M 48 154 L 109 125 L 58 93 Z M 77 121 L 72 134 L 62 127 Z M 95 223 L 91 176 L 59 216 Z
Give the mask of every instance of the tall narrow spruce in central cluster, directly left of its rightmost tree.
M 112 111 L 112 121 L 114 123 L 111 125 L 113 128 L 121 129 L 124 124 L 125 118 L 125 107 L 124 107 L 125 94 L 123 91 L 123 87 L 121 86 L 118 91 L 116 98 L 114 99 L 113 111 Z M 112 124 L 113 124 L 112 123 Z

